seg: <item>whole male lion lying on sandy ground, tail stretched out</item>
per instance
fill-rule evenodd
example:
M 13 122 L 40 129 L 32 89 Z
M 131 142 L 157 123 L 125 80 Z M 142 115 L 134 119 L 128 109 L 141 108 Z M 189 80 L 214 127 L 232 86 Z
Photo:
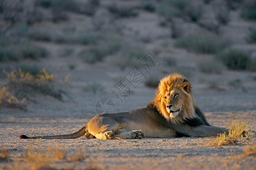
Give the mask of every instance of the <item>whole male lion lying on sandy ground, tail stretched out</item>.
M 196 106 L 188 80 L 180 74 L 170 74 L 160 80 L 155 98 L 146 108 L 100 114 L 72 134 L 19 138 L 73 139 L 84 134 L 97 139 L 172 138 L 177 134 L 209 137 L 224 132 L 228 133 L 228 129 L 208 124 Z

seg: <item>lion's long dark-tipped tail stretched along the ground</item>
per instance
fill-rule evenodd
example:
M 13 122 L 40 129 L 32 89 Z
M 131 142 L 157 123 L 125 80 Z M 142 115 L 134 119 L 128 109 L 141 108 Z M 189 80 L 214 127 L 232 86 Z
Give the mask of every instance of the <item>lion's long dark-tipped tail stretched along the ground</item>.
M 75 139 L 79 138 L 82 135 L 86 133 L 85 126 L 82 127 L 79 131 L 76 131 L 72 134 L 66 134 L 66 135 L 52 135 L 52 136 L 33 136 L 33 137 L 28 137 L 26 135 L 20 135 L 20 139 Z

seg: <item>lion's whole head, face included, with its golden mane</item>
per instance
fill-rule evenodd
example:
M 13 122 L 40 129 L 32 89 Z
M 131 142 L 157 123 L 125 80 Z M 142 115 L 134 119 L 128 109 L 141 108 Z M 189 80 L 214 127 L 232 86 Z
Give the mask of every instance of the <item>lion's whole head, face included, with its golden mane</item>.
M 180 74 L 171 74 L 160 81 L 154 104 L 168 121 L 177 124 L 195 116 L 190 83 Z

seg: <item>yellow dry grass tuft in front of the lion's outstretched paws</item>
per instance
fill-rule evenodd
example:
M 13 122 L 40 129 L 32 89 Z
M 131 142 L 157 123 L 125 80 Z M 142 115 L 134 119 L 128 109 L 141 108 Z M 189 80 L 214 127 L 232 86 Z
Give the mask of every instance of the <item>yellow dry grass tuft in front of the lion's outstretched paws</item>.
M 223 146 L 237 143 L 240 139 L 250 139 L 253 134 L 247 130 L 247 122 L 232 121 L 229 134 L 219 134 L 218 137 L 210 143 L 212 146 Z

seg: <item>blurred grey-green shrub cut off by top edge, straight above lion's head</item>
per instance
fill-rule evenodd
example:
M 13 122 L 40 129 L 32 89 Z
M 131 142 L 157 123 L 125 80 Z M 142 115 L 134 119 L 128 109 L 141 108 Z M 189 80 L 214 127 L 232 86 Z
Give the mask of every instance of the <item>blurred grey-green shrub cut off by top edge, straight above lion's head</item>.
M 156 8 L 159 15 L 164 16 L 167 20 L 172 20 L 174 16 L 181 16 L 185 7 L 188 5 L 187 0 L 167 0 L 161 2 Z

